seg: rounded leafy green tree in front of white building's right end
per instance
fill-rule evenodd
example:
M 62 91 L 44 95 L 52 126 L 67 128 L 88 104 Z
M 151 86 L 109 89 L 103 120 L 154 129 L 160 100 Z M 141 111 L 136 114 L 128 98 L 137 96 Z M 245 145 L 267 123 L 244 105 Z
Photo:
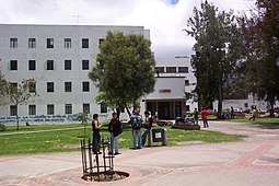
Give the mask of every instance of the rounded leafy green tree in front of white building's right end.
M 153 92 L 155 60 L 150 49 L 151 43 L 143 35 L 121 32 L 107 32 L 101 44 L 96 66 L 89 78 L 96 83 L 96 101 L 120 109 L 130 105 L 144 94 Z

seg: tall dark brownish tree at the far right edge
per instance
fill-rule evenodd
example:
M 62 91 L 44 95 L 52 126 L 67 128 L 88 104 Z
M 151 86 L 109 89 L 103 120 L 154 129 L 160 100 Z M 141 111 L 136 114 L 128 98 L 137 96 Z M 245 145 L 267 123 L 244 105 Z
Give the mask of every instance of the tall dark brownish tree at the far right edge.
M 249 18 L 240 20 L 246 42 L 248 88 L 270 105 L 279 100 L 279 1 L 257 0 Z

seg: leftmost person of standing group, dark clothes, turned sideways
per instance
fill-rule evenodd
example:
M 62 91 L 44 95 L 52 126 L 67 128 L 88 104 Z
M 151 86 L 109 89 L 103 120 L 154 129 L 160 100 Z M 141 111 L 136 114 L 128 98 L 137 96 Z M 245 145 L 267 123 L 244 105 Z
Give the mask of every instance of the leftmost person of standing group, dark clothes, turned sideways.
M 98 115 L 93 115 L 92 121 L 92 130 L 93 130 L 93 153 L 100 153 L 100 142 L 101 142 L 101 135 L 100 135 L 100 124 L 98 124 Z

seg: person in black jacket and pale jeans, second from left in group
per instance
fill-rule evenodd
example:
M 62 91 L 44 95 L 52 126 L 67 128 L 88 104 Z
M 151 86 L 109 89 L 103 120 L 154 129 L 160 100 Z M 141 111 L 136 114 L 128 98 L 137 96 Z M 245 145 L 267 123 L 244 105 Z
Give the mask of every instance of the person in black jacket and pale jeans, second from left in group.
M 119 119 L 117 118 L 117 113 L 113 113 L 113 118 L 109 121 L 108 125 L 108 131 L 111 132 L 109 141 L 111 141 L 111 148 L 108 151 L 108 154 L 113 154 L 114 147 L 115 147 L 115 155 L 119 154 L 118 151 L 118 135 L 123 132 L 123 126 Z M 115 146 L 114 146 L 115 144 Z

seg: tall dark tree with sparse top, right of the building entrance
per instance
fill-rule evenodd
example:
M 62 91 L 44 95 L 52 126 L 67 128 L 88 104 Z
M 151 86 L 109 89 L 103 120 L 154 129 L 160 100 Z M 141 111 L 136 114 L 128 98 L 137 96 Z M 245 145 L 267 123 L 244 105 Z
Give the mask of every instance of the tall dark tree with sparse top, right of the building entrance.
M 191 65 L 197 78 L 195 92 L 199 106 L 209 107 L 218 100 L 218 116 L 221 117 L 224 88 L 242 56 L 235 18 L 232 11 L 219 11 L 205 1 L 200 10 L 194 8 L 194 16 L 189 18 L 187 26 L 185 31 L 196 39 Z

